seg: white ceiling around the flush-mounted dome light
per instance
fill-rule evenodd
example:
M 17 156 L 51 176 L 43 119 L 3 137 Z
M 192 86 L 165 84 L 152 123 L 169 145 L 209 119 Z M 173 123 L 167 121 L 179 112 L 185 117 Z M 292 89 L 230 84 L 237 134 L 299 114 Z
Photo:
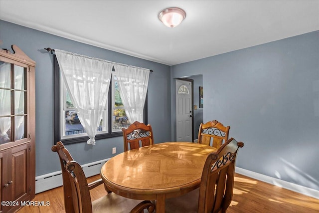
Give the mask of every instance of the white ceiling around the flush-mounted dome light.
M 171 6 L 175 28 L 158 19 Z M 0 19 L 175 65 L 319 30 L 319 0 L 0 0 Z

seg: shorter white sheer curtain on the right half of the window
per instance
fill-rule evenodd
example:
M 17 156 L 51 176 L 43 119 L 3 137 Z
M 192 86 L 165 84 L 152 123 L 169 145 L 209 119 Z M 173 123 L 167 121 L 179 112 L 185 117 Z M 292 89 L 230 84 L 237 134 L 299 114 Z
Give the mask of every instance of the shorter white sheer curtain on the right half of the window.
M 115 64 L 121 99 L 131 123 L 143 122 L 143 109 L 149 85 L 150 70 Z

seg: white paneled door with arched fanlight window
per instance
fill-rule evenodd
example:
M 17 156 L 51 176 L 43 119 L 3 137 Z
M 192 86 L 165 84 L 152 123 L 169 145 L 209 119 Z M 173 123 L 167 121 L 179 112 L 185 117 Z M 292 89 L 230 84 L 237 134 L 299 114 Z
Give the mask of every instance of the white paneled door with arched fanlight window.
M 176 79 L 176 140 L 192 142 L 191 82 Z

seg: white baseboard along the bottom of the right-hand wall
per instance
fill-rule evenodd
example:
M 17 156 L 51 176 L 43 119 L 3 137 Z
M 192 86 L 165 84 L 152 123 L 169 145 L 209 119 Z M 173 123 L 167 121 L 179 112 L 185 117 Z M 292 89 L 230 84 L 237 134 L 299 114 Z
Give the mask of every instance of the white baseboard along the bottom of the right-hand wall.
M 300 193 L 300 194 L 303 194 L 303 195 L 306 195 L 309 197 L 319 199 L 319 191 L 318 190 L 314 190 L 311 188 L 300 186 L 300 185 L 290 183 L 287 181 L 283 181 L 283 180 L 273 178 L 270 176 L 262 175 L 262 174 L 252 172 L 249 170 L 245 170 L 245 169 L 242 169 L 239 167 L 235 168 L 235 172 L 238 174 L 262 181 L 262 182 L 266 182 L 268 184 L 272 184 L 272 185 L 275 185 L 275 186 L 278 186 L 278 187 L 281 187 L 281 188 L 284 188 L 287 190 L 291 190 L 291 191 L 294 191 L 294 192 L 297 192 L 297 193 Z

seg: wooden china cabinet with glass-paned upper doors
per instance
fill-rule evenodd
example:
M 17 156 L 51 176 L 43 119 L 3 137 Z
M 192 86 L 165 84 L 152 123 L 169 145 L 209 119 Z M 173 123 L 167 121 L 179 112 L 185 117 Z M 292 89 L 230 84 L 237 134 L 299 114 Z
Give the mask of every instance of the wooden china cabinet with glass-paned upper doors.
M 35 62 L 12 50 L 0 50 L 0 213 L 35 196 Z

